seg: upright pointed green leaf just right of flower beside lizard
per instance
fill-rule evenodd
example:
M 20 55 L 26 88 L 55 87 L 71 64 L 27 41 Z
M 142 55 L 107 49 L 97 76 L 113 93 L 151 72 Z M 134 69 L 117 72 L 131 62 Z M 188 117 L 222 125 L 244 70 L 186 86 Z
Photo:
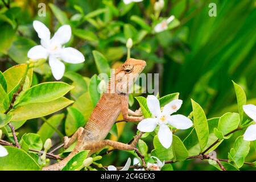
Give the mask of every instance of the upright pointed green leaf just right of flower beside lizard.
M 201 151 L 203 151 L 204 147 L 208 142 L 209 137 L 209 129 L 207 117 L 204 114 L 204 110 L 202 107 L 197 104 L 195 101 L 191 100 L 193 107 L 193 119 L 197 137 L 199 139 L 199 144 Z

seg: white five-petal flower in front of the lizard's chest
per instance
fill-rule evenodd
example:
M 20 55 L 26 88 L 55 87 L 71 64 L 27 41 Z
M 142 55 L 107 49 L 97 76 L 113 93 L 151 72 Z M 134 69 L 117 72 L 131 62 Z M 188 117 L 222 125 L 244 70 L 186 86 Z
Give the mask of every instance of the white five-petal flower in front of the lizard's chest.
M 156 118 L 143 119 L 138 124 L 138 130 L 142 132 L 151 132 L 155 130 L 157 125 L 159 125 L 159 141 L 165 148 L 169 148 L 172 144 L 172 131 L 169 129 L 168 125 L 181 130 L 189 129 L 189 127 L 193 125 L 192 121 L 184 115 L 176 114 L 170 116 L 170 114 L 175 113 L 180 109 L 181 104 L 181 100 L 171 101 L 163 107 L 163 111 L 161 112 L 158 98 L 155 96 L 148 96 L 148 109 Z

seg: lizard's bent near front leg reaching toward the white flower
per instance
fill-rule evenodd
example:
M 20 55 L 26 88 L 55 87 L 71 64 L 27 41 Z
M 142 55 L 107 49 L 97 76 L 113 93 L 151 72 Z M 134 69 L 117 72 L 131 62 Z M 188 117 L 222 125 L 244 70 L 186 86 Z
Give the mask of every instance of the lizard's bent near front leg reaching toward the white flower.
M 123 119 L 125 119 L 125 121 L 127 121 L 127 122 L 137 122 L 137 121 L 142 121 L 142 119 L 144 119 L 144 117 L 129 115 L 130 111 L 129 111 L 129 108 L 128 108 L 128 97 L 123 96 L 121 98 L 121 113 L 123 115 Z M 135 112 L 133 111 L 133 113 L 135 113 Z

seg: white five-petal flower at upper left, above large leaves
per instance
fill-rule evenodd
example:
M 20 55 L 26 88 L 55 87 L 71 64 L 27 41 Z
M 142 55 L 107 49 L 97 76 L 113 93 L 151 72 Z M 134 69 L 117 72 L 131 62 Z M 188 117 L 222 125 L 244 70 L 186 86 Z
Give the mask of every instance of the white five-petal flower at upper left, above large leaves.
M 32 47 L 28 51 L 27 57 L 32 60 L 47 59 L 49 57 L 52 75 L 56 80 L 60 80 L 65 72 L 65 65 L 60 60 L 72 64 L 85 61 L 84 55 L 77 49 L 63 47 L 63 44 L 71 39 L 71 27 L 69 25 L 61 26 L 52 38 L 51 32 L 42 22 L 35 20 L 33 26 L 41 39 L 41 45 Z

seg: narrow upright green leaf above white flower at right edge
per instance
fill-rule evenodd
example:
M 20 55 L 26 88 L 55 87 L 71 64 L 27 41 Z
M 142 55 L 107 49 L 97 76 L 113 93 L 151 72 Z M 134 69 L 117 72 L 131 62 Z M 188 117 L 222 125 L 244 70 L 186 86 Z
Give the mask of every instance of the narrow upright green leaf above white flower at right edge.
M 242 122 L 243 121 L 243 105 L 246 105 L 246 94 L 240 85 L 236 84 L 234 81 L 232 82 L 234 84 L 234 89 L 236 91 L 238 111 L 240 114 L 240 121 Z

